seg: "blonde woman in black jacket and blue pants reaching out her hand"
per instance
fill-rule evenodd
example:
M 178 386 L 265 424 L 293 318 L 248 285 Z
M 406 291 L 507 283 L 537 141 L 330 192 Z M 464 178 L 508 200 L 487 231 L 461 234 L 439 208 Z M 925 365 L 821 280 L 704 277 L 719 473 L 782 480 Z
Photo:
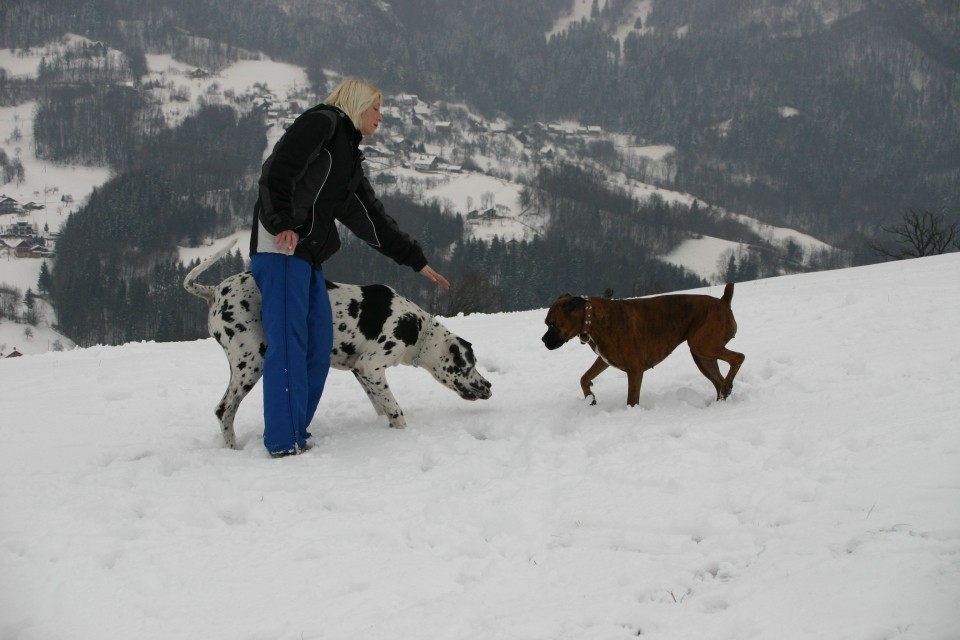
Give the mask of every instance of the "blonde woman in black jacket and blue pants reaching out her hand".
M 399 264 L 450 286 L 387 215 L 363 174 L 360 140 L 383 120 L 381 100 L 366 82 L 342 82 L 290 125 L 263 163 L 250 256 L 269 344 L 263 443 L 274 457 L 306 449 L 330 370 L 333 317 L 322 267 L 340 248 L 335 220 Z

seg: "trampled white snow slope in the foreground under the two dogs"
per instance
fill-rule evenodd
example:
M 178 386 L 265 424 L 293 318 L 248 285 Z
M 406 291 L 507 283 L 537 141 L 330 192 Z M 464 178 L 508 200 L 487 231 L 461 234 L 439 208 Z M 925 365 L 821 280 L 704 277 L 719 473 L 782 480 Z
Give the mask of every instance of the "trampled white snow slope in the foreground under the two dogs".
M 738 284 L 722 403 L 685 347 L 589 406 L 544 310 L 448 318 L 490 400 L 393 369 L 395 431 L 334 371 L 281 460 L 259 386 L 223 447 L 212 339 L 0 360 L 0 637 L 957 638 L 958 272 Z

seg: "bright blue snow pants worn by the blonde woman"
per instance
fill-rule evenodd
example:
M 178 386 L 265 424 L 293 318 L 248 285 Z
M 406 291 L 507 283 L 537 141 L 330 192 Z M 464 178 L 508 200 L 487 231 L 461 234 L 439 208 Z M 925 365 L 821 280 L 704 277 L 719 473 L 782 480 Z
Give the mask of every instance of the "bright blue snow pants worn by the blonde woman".
M 323 395 L 333 347 L 333 315 L 323 271 L 279 253 L 251 260 L 263 298 L 263 444 L 270 453 L 302 449 Z

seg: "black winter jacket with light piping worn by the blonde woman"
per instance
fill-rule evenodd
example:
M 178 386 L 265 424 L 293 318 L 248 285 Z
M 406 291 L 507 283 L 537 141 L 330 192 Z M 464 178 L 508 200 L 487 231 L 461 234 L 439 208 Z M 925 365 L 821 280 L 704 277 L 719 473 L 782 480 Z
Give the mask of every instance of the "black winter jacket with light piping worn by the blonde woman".
M 318 269 L 340 248 L 339 220 L 397 263 L 426 266 L 420 245 L 387 215 L 364 175 L 361 139 L 343 111 L 324 104 L 290 125 L 263 163 L 250 255 L 277 253 L 275 236 L 292 229 L 300 238 L 294 255 Z

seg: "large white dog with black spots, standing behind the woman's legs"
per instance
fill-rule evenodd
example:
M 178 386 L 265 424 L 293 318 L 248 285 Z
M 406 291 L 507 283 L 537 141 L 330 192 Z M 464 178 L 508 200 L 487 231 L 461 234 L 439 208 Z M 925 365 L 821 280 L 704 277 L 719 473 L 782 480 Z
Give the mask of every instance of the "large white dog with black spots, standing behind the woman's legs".
M 230 363 L 230 384 L 216 415 L 223 440 L 237 448 L 233 419 L 240 402 L 263 376 L 266 338 L 260 321 L 260 290 L 246 271 L 215 286 L 196 282 L 234 243 L 194 267 L 183 286 L 210 307 L 210 335 L 223 347 Z M 333 310 L 333 350 L 330 364 L 356 376 L 377 415 L 386 415 L 390 426 L 406 426 L 403 411 L 387 385 L 387 367 L 408 364 L 422 367 L 445 387 L 465 400 L 490 397 L 490 383 L 477 371 L 473 348 L 433 316 L 384 285 L 357 286 L 327 281 Z

